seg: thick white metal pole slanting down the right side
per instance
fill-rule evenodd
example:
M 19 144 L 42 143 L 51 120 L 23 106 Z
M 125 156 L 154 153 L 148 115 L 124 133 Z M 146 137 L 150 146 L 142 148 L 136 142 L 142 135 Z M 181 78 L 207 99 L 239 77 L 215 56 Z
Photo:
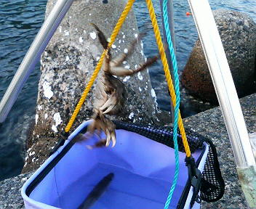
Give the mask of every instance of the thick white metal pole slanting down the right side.
M 188 0 L 231 141 L 241 187 L 256 208 L 256 164 L 228 60 L 207 0 Z

